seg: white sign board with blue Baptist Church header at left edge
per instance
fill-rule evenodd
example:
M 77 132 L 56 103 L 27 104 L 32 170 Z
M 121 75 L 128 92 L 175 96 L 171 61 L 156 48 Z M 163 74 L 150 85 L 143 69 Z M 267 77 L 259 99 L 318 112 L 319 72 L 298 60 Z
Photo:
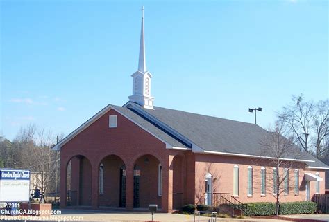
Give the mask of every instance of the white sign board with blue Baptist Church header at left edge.
M 30 171 L 0 169 L 0 203 L 28 202 L 30 199 Z

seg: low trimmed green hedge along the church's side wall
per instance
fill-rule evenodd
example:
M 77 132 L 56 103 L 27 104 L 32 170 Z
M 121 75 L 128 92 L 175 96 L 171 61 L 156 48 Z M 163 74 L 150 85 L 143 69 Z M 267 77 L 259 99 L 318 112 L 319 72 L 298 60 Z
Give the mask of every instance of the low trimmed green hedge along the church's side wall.
M 276 214 L 276 203 L 247 203 L 245 216 L 268 216 Z M 311 201 L 280 203 L 279 214 L 313 214 L 317 203 Z

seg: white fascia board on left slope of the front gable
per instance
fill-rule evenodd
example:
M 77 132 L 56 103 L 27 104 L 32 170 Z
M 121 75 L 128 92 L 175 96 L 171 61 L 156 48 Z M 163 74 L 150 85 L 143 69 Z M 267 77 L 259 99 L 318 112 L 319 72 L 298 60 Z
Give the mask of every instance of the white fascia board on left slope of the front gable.
M 73 132 L 69 133 L 69 135 L 67 135 L 64 139 L 60 140 L 60 142 L 58 142 L 58 144 L 53 146 L 51 149 L 60 150 L 60 147 L 62 147 L 62 145 L 65 145 L 65 143 L 69 142 L 69 140 L 71 140 L 71 138 L 74 138 L 74 136 L 78 135 L 78 133 L 83 131 L 85 128 L 89 127 L 92 123 L 94 123 L 96 120 L 98 120 L 102 115 L 104 115 L 106 112 L 110 111 L 111 108 L 112 108 L 111 105 L 108 105 L 105 108 L 103 108 L 101 111 L 99 111 L 98 113 L 93 115 L 92 118 L 90 118 L 85 123 L 83 123 L 80 127 L 76 128 Z

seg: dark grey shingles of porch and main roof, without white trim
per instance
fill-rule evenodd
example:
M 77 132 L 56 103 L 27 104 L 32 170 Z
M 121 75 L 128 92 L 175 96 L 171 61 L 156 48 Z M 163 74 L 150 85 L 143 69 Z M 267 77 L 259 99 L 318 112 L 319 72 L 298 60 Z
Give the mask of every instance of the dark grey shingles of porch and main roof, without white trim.
M 187 113 L 185 111 L 162 107 L 144 109 L 139 105 L 136 106 L 149 113 L 149 115 L 162 122 L 162 124 L 174 129 L 174 131 L 180 133 L 195 145 L 201 147 L 201 149 L 207 151 L 260 156 L 262 155 L 262 145 L 260 142 L 269 135 L 268 131 L 262 129 L 257 124 Z M 152 120 L 149 120 L 149 118 L 146 118 L 137 109 L 114 105 L 112 107 L 170 145 L 191 148 L 186 142 L 169 133 Z M 286 158 L 296 158 L 296 155 L 292 154 Z M 315 162 L 307 163 L 310 167 L 328 167 L 306 152 L 303 152 L 299 156 L 299 159 L 314 160 Z

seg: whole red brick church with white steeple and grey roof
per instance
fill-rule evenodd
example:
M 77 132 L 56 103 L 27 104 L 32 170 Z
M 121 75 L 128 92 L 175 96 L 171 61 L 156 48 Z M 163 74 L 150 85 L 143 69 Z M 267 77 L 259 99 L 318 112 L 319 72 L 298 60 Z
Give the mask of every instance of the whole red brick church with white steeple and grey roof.
M 214 204 L 215 194 L 241 203 L 275 201 L 277 170 L 260 154 L 269 132 L 237 122 L 154 106 L 146 69 L 144 13 L 133 95 L 109 104 L 54 147 L 60 150 L 60 207 L 158 204 L 170 212 L 188 203 Z M 293 156 L 282 158 L 293 160 Z M 311 155 L 294 160 L 281 201 L 324 194 L 327 166 Z M 287 182 L 288 184 L 288 182 Z

